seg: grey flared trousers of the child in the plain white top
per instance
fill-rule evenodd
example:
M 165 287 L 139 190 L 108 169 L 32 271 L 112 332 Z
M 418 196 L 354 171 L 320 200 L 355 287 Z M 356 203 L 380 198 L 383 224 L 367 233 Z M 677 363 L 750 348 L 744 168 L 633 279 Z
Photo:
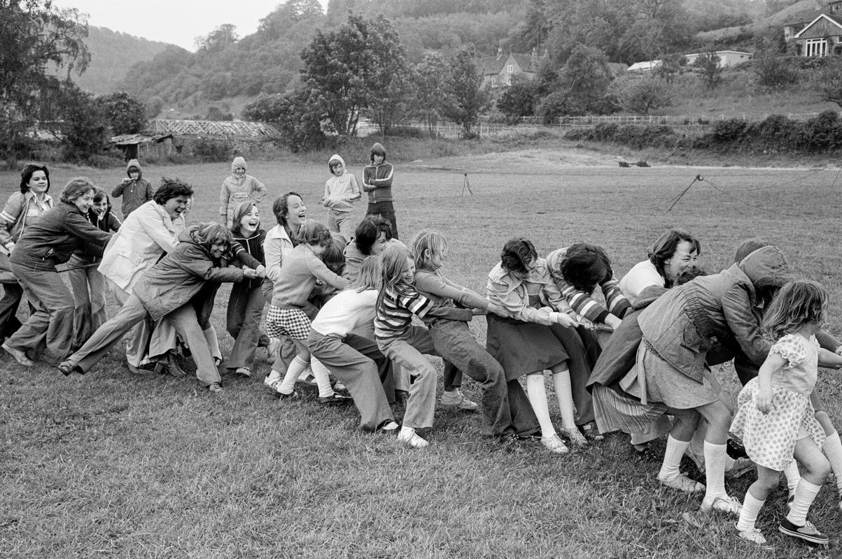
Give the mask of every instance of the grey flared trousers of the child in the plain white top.
M 311 329 L 307 346 L 311 355 L 348 388 L 360 412 L 360 429 L 373 431 L 395 420 L 382 382 L 389 360 L 374 340 L 354 334 L 339 340 Z

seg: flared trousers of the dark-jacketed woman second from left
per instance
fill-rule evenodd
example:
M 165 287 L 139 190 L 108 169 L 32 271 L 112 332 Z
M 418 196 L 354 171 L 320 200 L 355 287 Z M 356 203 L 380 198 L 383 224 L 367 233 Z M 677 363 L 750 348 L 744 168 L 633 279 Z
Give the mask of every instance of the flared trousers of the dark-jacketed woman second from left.
M 12 272 L 35 312 L 6 344 L 57 365 L 70 353 L 73 342 L 73 294 L 55 268 L 38 270 L 12 262 Z

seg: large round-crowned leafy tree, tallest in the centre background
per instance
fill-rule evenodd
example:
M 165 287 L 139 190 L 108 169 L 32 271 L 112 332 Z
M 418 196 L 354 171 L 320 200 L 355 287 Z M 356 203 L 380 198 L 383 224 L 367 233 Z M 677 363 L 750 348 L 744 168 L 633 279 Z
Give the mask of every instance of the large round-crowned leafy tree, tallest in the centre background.
M 327 103 L 328 119 L 341 135 L 356 133 L 365 108 L 394 110 L 408 79 L 400 38 L 383 16 L 352 14 L 336 31 L 317 30 L 301 60 L 306 87 Z

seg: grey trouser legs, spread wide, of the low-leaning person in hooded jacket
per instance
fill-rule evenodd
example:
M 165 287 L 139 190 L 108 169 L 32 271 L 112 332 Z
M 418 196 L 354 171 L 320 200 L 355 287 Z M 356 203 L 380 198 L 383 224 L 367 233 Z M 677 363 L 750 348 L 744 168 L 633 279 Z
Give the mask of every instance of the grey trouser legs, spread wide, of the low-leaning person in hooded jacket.
M 141 300 L 135 295 L 130 295 L 120 312 L 100 326 L 85 342 L 85 345 L 67 359 L 76 362 L 84 372 L 90 371 L 91 367 L 102 359 L 120 341 L 120 338 L 131 330 L 132 326 L 148 318 L 149 313 L 143 307 Z M 190 303 L 182 305 L 168 314 L 167 318 L 190 347 L 190 353 L 196 362 L 196 378 L 199 379 L 199 383 L 206 387 L 214 382 L 221 382 L 213 356 L 210 355 L 210 347 L 205 334 L 196 319 L 193 305 Z

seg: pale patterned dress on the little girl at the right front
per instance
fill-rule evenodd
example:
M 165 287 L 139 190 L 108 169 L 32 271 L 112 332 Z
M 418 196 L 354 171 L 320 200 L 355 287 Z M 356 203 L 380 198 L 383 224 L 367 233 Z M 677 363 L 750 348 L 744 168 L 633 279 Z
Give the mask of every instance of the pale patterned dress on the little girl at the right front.
M 797 440 L 810 437 L 824 444 L 824 430 L 810 403 L 818 376 L 818 341 L 811 335 L 787 334 L 770 350 L 787 361 L 772 375 L 772 406 L 762 413 L 754 403 L 759 379 L 751 379 L 737 397 L 737 414 L 731 423 L 733 435 L 742 436 L 749 458 L 771 470 L 782 471 L 792 460 Z

